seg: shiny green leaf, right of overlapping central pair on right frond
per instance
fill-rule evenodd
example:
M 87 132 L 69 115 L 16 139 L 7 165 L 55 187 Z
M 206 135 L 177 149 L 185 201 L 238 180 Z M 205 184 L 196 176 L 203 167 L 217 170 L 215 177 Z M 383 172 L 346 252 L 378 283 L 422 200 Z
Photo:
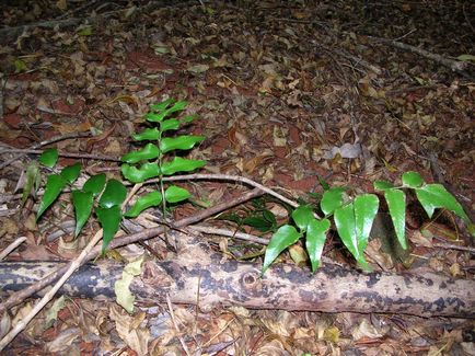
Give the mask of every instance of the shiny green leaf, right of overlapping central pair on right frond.
M 370 238 L 371 227 L 378 214 L 380 199 L 374 194 L 362 194 L 355 198 L 355 221 L 358 250 L 362 253 Z

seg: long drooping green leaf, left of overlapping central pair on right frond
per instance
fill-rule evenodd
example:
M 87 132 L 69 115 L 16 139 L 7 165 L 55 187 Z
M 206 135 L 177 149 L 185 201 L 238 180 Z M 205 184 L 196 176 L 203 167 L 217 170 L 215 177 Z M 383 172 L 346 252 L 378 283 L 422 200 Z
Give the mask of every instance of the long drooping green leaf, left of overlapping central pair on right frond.
M 334 219 L 343 243 L 354 255 L 359 265 L 364 269 L 369 269 L 370 267 L 364 260 L 364 250 L 359 249 L 359 245 L 366 246 L 366 243 L 361 241 L 361 244 L 359 244 L 358 241 L 354 203 L 337 208 L 335 210 Z

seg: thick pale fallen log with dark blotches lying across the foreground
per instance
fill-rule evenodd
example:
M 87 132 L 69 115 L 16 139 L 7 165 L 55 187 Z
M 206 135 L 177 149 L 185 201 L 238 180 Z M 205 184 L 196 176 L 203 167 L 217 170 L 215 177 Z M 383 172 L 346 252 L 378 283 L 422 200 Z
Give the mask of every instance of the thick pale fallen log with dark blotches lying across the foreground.
M 0 262 L 2 297 L 34 284 L 60 267 L 56 262 Z M 60 290 L 70 297 L 114 299 L 123 265 L 83 265 Z M 198 288 L 199 285 L 199 288 Z M 475 318 L 475 280 L 437 274 L 360 273 L 324 265 L 315 274 L 275 264 L 264 276 L 260 265 L 223 260 L 219 253 L 199 260 L 147 261 L 130 290 L 138 302 L 198 305 L 202 310 L 242 306 L 250 309 L 324 312 L 382 312 L 420 317 Z

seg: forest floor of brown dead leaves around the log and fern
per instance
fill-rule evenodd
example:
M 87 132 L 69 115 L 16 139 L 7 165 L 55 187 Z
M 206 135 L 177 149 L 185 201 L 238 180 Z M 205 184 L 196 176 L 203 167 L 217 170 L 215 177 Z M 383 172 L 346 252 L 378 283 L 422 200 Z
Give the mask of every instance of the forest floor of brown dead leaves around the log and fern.
M 76 156 L 61 157 L 60 165 L 79 160 L 88 173 L 120 179 L 115 160 L 132 149 L 130 135 L 142 116 L 151 104 L 174 97 L 186 100 L 187 113 L 199 117 L 187 133 L 206 140 L 190 157 L 206 160 L 208 172 L 250 177 L 308 199 L 326 184 L 373 192 L 375 180 L 399 182 L 404 172 L 417 171 L 426 182 L 444 184 L 473 219 L 471 1 L 12 3 L 0 9 L 0 164 L 22 149 L 56 147 Z M 65 139 L 35 146 L 58 136 Z M 20 208 L 15 186 L 35 159 L 28 152 L 0 170 L 0 194 L 11 197 L 0 206 L 0 250 L 24 236 L 8 259 L 70 259 L 97 225 L 86 225 L 71 244 L 68 196 L 38 225 L 37 202 Z M 201 204 L 240 194 L 221 182 L 187 186 Z M 177 207 L 175 218 L 197 204 Z M 263 204 L 285 222 L 285 209 Z M 230 210 L 216 223 L 263 236 L 230 221 L 253 216 L 255 207 Z M 370 241 L 367 257 L 375 269 L 473 279 L 473 241 L 453 215 L 438 211 L 429 219 L 409 197 L 406 223 L 410 254 L 395 261 Z M 228 255 L 262 261 L 254 245 L 210 239 Z M 123 257 L 143 253 L 119 251 Z M 324 255 L 351 261 L 336 236 Z M 291 263 L 292 256 L 279 261 Z M 2 335 L 32 305 L 28 299 L 2 317 Z M 166 305 L 129 315 L 114 302 L 66 299 L 46 329 L 51 310 L 48 305 L 5 355 L 475 354 L 470 320 L 173 306 L 172 322 Z M 125 333 L 130 325 L 140 332 Z

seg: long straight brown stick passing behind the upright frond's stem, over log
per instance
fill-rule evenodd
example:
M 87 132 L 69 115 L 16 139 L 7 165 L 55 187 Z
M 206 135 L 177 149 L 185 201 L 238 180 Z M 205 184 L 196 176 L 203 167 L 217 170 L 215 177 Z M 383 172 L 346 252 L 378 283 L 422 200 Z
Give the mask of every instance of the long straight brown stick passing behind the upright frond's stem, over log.
M 241 195 L 240 197 L 232 199 L 230 202 L 227 203 L 221 203 L 218 204 L 211 208 L 201 210 L 190 217 L 187 217 L 185 219 L 178 220 L 175 222 L 175 226 L 178 228 L 184 228 L 188 225 L 201 221 L 206 218 L 209 218 L 216 214 L 219 214 L 221 211 L 224 211 L 233 206 L 240 205 L 242 203 L 245 203 L 250 199 L 253 199 L 257 196 L 263 195 L 264 192 L 255 188 L 251 192 L 247 192 L 243 195 Z M 142 241 L 142 240 L 148 240 L 151 238 L 154 238 L 161 233 L 163 233 L 163 227 L 158 227 L 158 228 L 152 228 L 152 229 L 147 229 L 143 230 L 141 232 L 138 233 L 134 233 L 130 236 L 126 236 L 126 237 L 121 237 L 118 239 L 114 239 L 111 244 L 109 244 L 109 249 L 116 249 L 129 243 L 134 243 L 134 242 L 138 242 L 138 241 Z M 101 249 L 100 248 L 95 248 L 93 249 L 91 252 L 89 252 L 89 254 L 86 255 L 86 257 L 82 261 L 82 262 L 86 262 L 90 260 L 95 259 L 99 254 L 101 253 Z M 72 262 L 71 262 L 72 263 Z M 48 285 L 50 285 L 51 283 L 54 283 L 56 279 L 58 279 L 62 274 L 65 274 L 69 266 L 71 265 L 71 263 L 69 263 L 68 265 L 58 268 L 57 271 L 55 271 L 54 273 L 51 273 L 50 275 L 46 276 L 45 278 L 43 278 L 42 280 L 38 280 L 37 283 L 22 289 L 19 291 L 15 291 L 14 294 L 12 294 L 4 302 L 2 302 L 0 305 L 0 313 L 3 312 L 7 309 L 10 309 L 13 306 L 19 305 L 20 302 L 22 302 L 23 300 L 25 300 L 26 298 L 31 297 L 33 294 L 37 292 L 38 290 L 42 290 L 43 288 L 47 287 Z

